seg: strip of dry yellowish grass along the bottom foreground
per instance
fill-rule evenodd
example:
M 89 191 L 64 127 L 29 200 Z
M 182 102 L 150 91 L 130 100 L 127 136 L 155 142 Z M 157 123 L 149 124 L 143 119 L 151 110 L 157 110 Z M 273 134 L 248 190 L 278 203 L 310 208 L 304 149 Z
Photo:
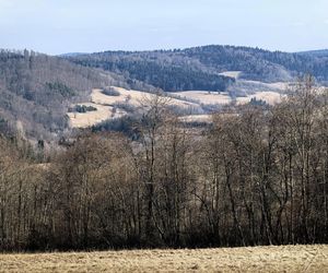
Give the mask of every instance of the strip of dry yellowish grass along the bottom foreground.
M 0 272 L 328 272 L 328 245 L 0 254 Z

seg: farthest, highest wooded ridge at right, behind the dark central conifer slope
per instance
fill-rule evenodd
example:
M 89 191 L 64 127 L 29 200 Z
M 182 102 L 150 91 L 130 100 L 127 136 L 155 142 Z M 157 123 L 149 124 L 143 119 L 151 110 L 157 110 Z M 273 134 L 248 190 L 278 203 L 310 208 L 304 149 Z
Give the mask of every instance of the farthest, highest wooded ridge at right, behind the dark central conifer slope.
M 289 81 L 311 73 L 319 81 L 328 80 L 328 59 L 319 55 L 288 54 L 259 48 L 206 46 L 181 51 L 189 58 L 220 70 L 243 71 L 243 76 L 259 81 Z

